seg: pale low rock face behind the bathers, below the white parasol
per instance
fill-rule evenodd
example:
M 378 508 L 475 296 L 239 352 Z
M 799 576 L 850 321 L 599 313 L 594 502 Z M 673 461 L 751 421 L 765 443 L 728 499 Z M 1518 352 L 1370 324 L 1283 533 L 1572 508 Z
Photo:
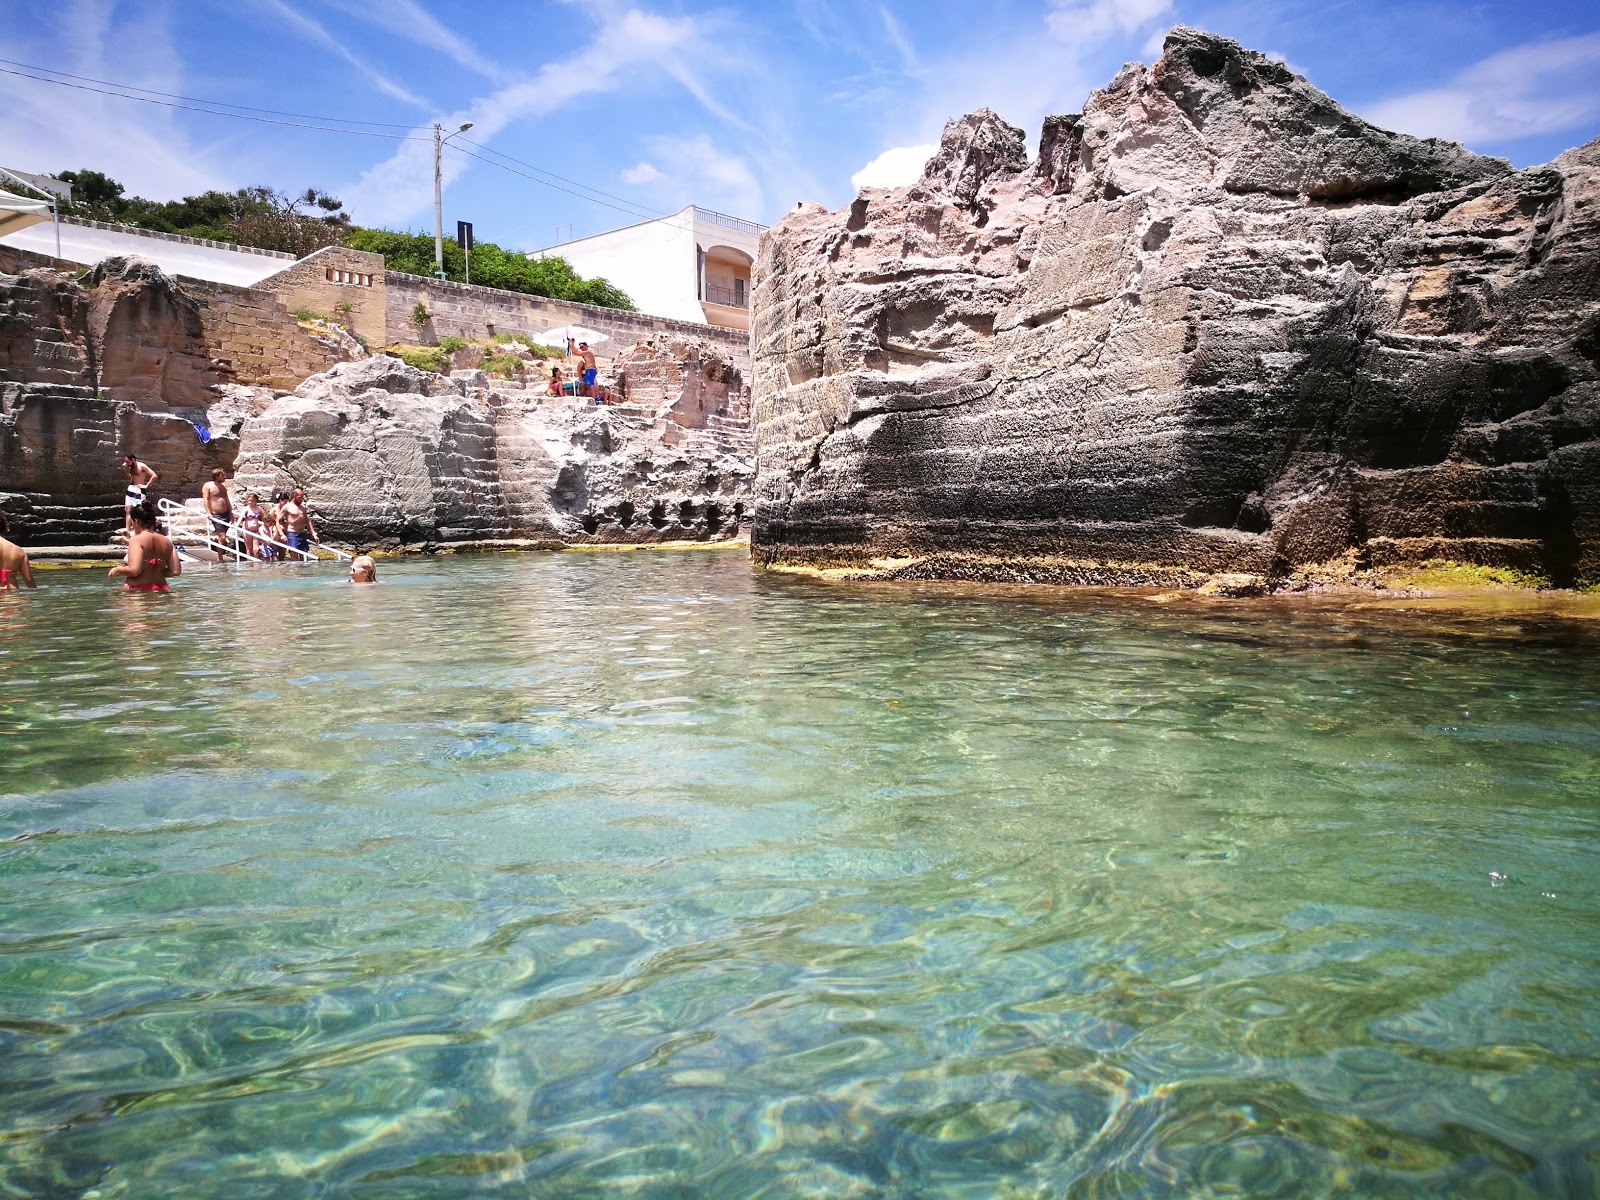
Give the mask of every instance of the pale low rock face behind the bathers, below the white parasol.
M 635 354 L 635 370 L 670 374 L 658 358 Z M 491 382 L 482 371 L 445 378 L 382 355 L 334 366 L 245 421 L 238 488 L 270 496 L 304 486 L 320 531 L 362 546 L 744 531 L 754 467 L 742 426 L 685 437 L 646 408 L 595 408 Z M 693 403 L 702 398 L 682 387 L 661 397 L 669 414 L 677 406 L 704 419 Z

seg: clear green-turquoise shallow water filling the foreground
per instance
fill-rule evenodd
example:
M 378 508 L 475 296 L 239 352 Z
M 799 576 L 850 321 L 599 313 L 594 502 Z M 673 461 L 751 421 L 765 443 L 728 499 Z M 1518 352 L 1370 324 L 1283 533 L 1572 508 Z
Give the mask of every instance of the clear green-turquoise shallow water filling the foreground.
M 1594 634 L 382 570 L 0 597 L 0 1195 L 1595 1194 Z

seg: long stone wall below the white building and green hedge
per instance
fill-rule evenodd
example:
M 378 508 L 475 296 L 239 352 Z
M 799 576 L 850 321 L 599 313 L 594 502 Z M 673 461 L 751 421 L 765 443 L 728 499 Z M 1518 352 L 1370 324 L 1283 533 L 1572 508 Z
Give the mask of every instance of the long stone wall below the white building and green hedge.
M 525 296 L 518 291 L 451 283 L 398 270 L 387 272 L 384 282 L 389 342 L 488 338 L 496 333 L 534 336 L 557 325 L 584 325 L 611 339 L 605 347 L 611 354 L 653 334 L 672 334 L 707 341 L 739 365 L 747 365 L 750 360 L 750 339 L 742 330 L 720 330 L 714 325 Z M 418 304 L 429 314 L 429 322 L 421 330 L 411 318 Z

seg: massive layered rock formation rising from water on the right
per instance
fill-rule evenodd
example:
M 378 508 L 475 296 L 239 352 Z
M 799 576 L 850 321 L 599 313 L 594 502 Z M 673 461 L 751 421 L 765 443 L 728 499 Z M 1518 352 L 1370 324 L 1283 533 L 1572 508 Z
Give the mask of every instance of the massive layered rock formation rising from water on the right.
M 762 560 L 1600 578 L 1600 141 L 1512 171 L 1176 29 L 757 264 Z

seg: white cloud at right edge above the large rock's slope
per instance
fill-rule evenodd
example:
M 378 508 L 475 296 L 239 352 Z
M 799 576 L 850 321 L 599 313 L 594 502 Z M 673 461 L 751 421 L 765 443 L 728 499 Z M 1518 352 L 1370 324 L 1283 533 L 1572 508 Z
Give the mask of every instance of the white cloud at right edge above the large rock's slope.
M 1467 67 L 1442 88 L 1370 106 L 1374 125 L 1494 146 L 1600 125 L 1600 34 L 1531 42 Z

